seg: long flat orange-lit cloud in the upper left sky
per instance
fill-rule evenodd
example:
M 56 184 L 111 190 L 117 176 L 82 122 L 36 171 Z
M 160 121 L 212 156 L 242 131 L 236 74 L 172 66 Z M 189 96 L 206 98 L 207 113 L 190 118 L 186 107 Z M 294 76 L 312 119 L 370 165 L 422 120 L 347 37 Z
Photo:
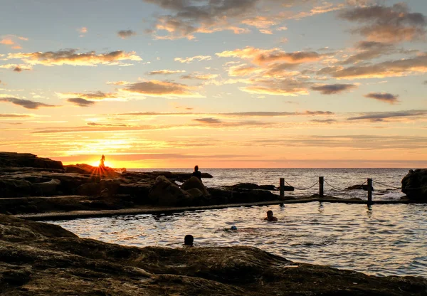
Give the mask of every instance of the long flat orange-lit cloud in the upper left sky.
M 122 60 L 142 60 L 135 51 L 112 51 L 96 54 L 95 51 L 77 53 L 76 49 L 46 51 L 45 53 L 9 53 L 8 58 L 19 58 L 30 65 L 121 65 Z

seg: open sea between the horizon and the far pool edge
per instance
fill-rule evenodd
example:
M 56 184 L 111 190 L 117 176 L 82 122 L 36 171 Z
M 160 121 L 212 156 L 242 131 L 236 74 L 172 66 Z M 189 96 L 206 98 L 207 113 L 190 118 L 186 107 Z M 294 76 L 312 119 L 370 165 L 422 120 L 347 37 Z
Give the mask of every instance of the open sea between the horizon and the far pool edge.
M 130 171 L 178 171 L 191 172 L 191 169 L 129 169 Z M 216 187 L 238 183 L 279 186 L 279 179 L 295 187 L 287 196 L 302 197 L 319 193 L 319 176 L 325 178 L 324 194 L 343 199 L 357 197 L 367 199 L 367 191 L 344 190 L 353 185 L 364 184 L 368 178 L 373 180 L 374 200 L 394 200 L 405 196 L 400 190 L 401 180 L 409 169 L 200 169 L 214 178 L 202 179 L 205 186 Z M 365 183 L 366 184 L 366 183 Z M 314 185 L 314 186 L 313 186 Z M 311 187 L 311 188 L 310 188 Z M 305 190 L 298 190 L 305 189 Z M 274 192 L 274 191 L 273 191 Z M 275 192 L 278 194 L 278 192 Z

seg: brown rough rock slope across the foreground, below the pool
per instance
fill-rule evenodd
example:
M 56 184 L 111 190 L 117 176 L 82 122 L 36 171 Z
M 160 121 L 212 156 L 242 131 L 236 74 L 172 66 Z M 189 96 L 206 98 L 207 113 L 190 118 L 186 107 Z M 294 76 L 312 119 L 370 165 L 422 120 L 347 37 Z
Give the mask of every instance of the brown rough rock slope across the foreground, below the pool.
M 427 295 L 422 277 L 293 263 L 257 248 L 133 248 L 0 215 L 1 295 Z

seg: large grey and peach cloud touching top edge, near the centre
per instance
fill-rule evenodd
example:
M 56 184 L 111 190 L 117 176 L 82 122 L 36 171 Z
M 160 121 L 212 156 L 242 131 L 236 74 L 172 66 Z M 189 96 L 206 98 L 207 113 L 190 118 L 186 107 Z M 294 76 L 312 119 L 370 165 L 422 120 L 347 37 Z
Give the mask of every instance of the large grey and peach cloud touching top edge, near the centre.
M 316 4 L 319 0 L 144 0 L 162 8 L 150 33 L 157 39 L 196 38 L 196 33 L 231 31 L 249 33 L 255 27 L 261 33 L 273 33 L 275 26 L 283 27 L 283 20 L 296 13 L 294 6 Z M 334 10 L 317 7 L 309 14 Z M 249 27 L 249 28 L 247 28 Z

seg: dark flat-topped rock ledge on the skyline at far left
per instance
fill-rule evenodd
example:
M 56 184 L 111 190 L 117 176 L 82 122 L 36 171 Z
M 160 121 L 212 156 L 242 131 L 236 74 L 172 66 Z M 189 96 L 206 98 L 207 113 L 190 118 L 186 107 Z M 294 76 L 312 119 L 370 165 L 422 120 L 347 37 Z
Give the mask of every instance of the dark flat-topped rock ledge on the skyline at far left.
M 0 166 L 64 169 L 62 162 L 30 153 L 0 152 Z

